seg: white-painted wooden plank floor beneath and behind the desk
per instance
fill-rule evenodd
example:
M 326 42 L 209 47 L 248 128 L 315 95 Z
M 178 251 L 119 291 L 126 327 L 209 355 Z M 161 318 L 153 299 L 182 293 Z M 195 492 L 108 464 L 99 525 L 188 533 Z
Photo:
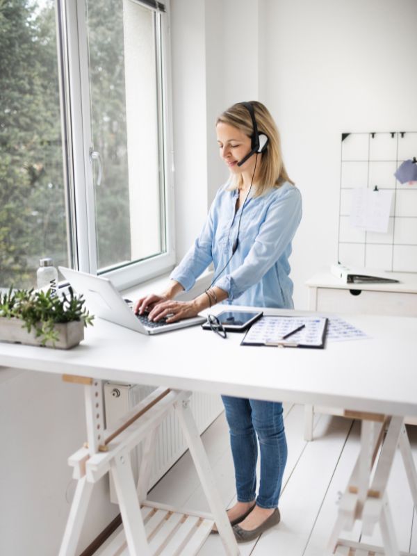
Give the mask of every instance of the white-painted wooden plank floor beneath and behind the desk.
M 336 518 L 338 496 L 345 489 L 359 452 L 359 423 L 318 415 L 314 441 L 307 443 L 303 440 L 304 407 L 286 405 L 284 409 L 288 461 L 279 500 L 281 523 L 256 541 L 241 544 L 242 556 L 322 556 Z M 409 438 L 417 461 L 417 427 L 409 427 Z M 235 489 L 224 414 L 204 432 L 202 439 L 224 506 L 228 507 L 235 500 Z M 156 484 L 148 498 L 179 509 L 209 511 L 188 452 Z M 389 502 L 400 550 L 417 553 L 417 515 L 399 451 L 389 481 Z M 343 537 L 382 544 L 378 528 L 373 537 L 361 538 L 359 527 Z M 199 550 L 200 556 L 223 554 L 218 535 L 209 535 Z

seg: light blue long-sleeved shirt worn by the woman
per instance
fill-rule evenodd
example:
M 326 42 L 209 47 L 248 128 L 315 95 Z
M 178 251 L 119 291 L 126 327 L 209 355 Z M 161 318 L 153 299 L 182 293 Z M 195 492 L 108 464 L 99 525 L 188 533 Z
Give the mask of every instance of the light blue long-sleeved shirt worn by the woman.
M 288 257 L 302 215 L 300 191 L 285 182 L 261 197 L 251 195 L 240 220 L 238 248 L 227 264 L 242 213 L 242 206 L 236 211 L 237 200 L 238 190 L 229 191 L 227 185 L 218 190 L 201 234 L 170 277 L 189 290 L 213 261 L 214 285 L 229 294 L 225 303 L 292 309 Z

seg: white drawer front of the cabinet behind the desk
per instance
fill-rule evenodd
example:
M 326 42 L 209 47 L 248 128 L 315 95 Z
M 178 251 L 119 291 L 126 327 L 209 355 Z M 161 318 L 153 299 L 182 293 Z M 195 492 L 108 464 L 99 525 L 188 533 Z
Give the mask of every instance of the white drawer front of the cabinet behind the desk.
M 317 311 L 417 316 L 417 294 L 317 288 Z M 354 295 L 357 294 L 357 295 Z

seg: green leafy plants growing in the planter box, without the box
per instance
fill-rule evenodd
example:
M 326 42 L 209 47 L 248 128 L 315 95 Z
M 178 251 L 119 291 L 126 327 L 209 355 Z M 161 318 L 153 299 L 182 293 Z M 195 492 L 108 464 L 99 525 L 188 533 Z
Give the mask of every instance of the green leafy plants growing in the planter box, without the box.
M 47 291 L 10 290 L 3 295 L 0 293 L 0 318 L 18 318 L 23 321 L 22 328 L 28 332 L 35 329 L 41 345 L 55 345 L 58 332 L 55 325 L 58 322 L 81 321 L 84 326 L 92 325 L 94 316 L 85 309 L 83 296 L 78 297 L 69 288 L 70 296 L 58 297 Z

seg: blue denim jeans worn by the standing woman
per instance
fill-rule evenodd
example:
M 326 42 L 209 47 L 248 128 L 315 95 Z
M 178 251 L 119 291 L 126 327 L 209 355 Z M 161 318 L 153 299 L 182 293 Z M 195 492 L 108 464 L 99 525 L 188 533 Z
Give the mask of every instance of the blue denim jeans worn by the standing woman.
M 222 396 L 229 425 L 239 502 L 256 498 L 256 461 L 261 450 L 261 477 L 256 505 L 276 508 L 287 459 L 282 404 Z M 256 433 L 256 434 L 255 434 Z

